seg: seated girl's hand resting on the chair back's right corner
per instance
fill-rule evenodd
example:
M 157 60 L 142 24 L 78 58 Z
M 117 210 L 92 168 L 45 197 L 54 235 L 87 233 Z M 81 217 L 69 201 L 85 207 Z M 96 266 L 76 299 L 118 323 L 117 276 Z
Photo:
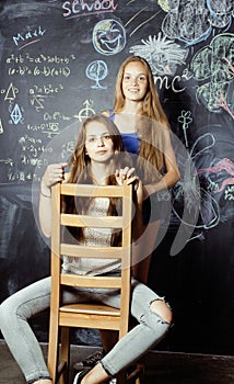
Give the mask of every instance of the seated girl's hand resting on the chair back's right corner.
M 138 204 L 142 204 L 143 201 L 143 185 L 139 177 L 134 173 L 134 168 L 125 167 L 124 169 L 117 169 L 115 177 L 119 185 L 122 185 L 124 180 L 127 180 L 127 184 L 133 184 L 133 190 L 137 193 Z

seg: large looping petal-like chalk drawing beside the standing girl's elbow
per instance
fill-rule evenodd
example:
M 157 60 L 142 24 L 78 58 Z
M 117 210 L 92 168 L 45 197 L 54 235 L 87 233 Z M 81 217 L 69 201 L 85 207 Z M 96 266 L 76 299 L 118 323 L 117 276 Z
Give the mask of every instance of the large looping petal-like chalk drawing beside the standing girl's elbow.
M 196 162 L 196 158 L 203 156 L 206 151 L 215 145 L 215 138 L 208 133 L 200 136 L 190 149 L 190 159 Z M 185 226 L 192 226 L 195 229 L 210 229 L 218 225 L 220 221 L 220 207 L 215 199 L 202 187 L 197 183 L 195 174 L 191 173 L 189 161 L 179 163 L 183 169 L 183 178 L 173 189 L 173 213 Z M 184 199 L 186 196 L 186 199 Z M 185 210 L 188 212 L 187 217 L 183 216 L 183 199 Z M 197 224 L 192 218 L 199 217 Z M 191 239 L 191 238 L 190 238 Z

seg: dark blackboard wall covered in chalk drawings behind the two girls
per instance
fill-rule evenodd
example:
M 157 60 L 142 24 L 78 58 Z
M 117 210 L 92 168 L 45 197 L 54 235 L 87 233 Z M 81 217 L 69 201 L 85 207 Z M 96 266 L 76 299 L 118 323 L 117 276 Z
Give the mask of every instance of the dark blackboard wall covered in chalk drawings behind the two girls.
M 175 315 L 159 348 L 233 353 L 233 15 L 232 0 L 0 2 L 0 301 L 48 274 L 40 177 L 69 159 L 85 116 L 112 108 L 118 67 L 136 54 L 182 172 L 149 276 Z

